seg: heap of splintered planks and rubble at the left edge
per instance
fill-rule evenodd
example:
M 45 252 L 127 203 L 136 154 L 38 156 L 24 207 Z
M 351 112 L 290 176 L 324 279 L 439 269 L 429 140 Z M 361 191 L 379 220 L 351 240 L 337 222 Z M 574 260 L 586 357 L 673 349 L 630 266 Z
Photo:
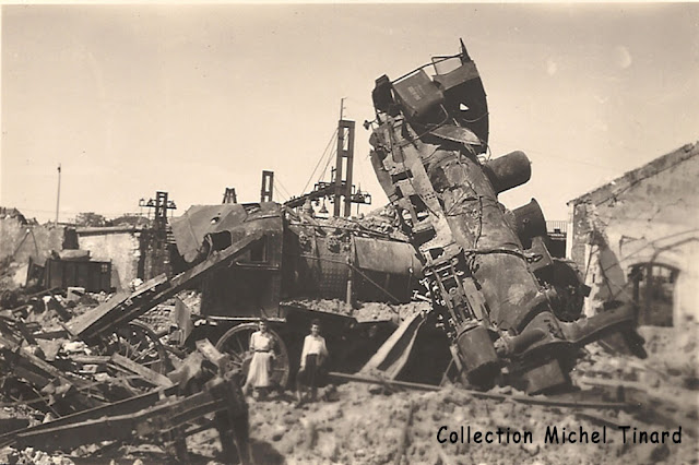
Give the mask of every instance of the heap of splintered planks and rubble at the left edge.
M 90 420 L 90 415 L 93 415 L 90 412 L 106 408 L 98 418 L 106 420 L 110 416 L 109 421 L 117 424 L 131 421 L 129 418 L 120 419 L 119 414 L 145 412 L 143 408 L 149 402 L 157 402 L 156 391 L 176 386 L 164 373 L 181 366 L 183 360 L 176 353 L 166 351 L 147 324 L 127 321 L 114 332 L 107 330 L 92 338 L 82 338 L 73 332 L 81 327 L 81 321 L 99 322 L 105 309 L 131 302 L 132 298 L 138 298 L 139 291 L 127 295 L 125 299 L 123 294 L 95 294 L 70 287 L 68 290 L 46 289 L 34 295 L 26 294 L 24 288 L 13 290 L 16 300 L 12 303 L 19 305 L 0 310 L 0 400 L 3 405 L 0 412 L 0 445 L 14 449 L 2 450 L 1 463 L 72 463 L 36 450 L 36 446 L 42 448 L 43 440 L 34 442 L 22 438 L 23 434 L 28 434 L 27 438 L 38 434 L 40 438 L 42 433 L 36 432 L 36 428 L 48 428 L 59 418 L 61 421 L 73 416 L 76 416 L 72 420 L 74 425 L 59 422 L 59 434 L 69 434 L 67 438 L 78 440 L 76 444 L 68 448 L 69 451 L 73 450 L 78 456 L 92 456 L 95 449 L 82 446 L 80 433 L 70 436 L 68 432 L 73 426 L 80 427 Z M 183 297 L 192 298 L 191 295 Z M 157 319 L 161 327 L 168 329 L 169 307 L 169 302 L 163 302 L 151 311 L 150 319 Z M 193 369 L 191 375 L 197 372 Z M 156 392 L 155 397 L 145 402 L 150 397 L 142 396 L 153 392 Z M 177 392 L 169 395 L 174 394 Z M 208 395 L 215 398 L 218 394 Z M 169 398 L 173 405 L 190 402 L 189 397 L 181 401 Z M 116 403 L 134 407 L 111 409 Z M 211 412 L 216 412 L 222 406 L 212 404 L 210 410 L 215 407 Z M 87 416 L 81 416 L 83 413 Z M 141 414 L 141 417 L 146 414 Z M 137 416 L 132 421 L 140 421 L 141 417 Z M 96 424 L 96 428 L 99 425 Z M 107 433 L 105 439 L 110 437 Z M 17 441 L 20 445 L 15 446 Z M 91 442 L 102 441 L 86 439 L 86 444 Z M 58 444 L 45 446 L 52 451 Z

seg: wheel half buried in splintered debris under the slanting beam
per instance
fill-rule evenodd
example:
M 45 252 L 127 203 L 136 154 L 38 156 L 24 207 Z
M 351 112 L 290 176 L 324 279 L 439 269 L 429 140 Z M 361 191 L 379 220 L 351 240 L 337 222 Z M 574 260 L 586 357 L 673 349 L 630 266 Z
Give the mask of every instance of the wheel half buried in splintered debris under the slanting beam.
M 103 343 L 106 354 L 119 354 L 151 370 L 167 372 L 167 351 L 155 333 L 144 324 L 130 322 Z

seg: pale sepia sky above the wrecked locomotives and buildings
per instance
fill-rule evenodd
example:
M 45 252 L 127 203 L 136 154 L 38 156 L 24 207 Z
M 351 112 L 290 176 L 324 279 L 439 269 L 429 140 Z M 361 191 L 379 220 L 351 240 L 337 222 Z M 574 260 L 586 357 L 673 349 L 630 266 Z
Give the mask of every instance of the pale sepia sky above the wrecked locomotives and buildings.
M 346 97 L 372 210 L 375 79 L 457 53 L 460 37 L 493 156 L 533 163 L 501 195 L 511 208 L 535 196 L 567 219 L 568 200 L 699 140 L 699 4 L 4 5 L 0 205 L 52 219 L 59 163 L 61 220 L 138 212 L 156 190 L 176 214 L 226 187 L 259 201 L 263 169 L 284 201 Z

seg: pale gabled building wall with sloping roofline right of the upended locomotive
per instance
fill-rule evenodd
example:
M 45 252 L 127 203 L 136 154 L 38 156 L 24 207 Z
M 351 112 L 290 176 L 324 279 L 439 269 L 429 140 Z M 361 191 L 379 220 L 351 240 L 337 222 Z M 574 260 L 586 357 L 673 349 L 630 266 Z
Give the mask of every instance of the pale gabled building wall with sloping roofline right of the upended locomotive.
M 688 144 L 569 204 L 570 254 L 593 288 L 585 311 L 630 301 L 635 265 L 679 271 L 673 321 L 699 322 L 699 144 Z

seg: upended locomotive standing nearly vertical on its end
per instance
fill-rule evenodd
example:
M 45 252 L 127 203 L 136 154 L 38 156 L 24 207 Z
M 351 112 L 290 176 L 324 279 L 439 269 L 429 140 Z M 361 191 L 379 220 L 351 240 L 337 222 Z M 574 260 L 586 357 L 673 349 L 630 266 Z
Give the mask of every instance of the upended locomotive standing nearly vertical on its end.
M 371 163 L 423 262 L 427 318 L 447 333 L 455 379 L 550 392 L 569 384 L 582 345 L 612 333 L 643 355 L 632 308 L 580 318 L 585 288 L 552 259 L 536 201 L 514 211 L 498 201 L 530 179 L 530 162 L 489 158 L 486 94 L 463 43 L 377 79 L 372 100 Z

